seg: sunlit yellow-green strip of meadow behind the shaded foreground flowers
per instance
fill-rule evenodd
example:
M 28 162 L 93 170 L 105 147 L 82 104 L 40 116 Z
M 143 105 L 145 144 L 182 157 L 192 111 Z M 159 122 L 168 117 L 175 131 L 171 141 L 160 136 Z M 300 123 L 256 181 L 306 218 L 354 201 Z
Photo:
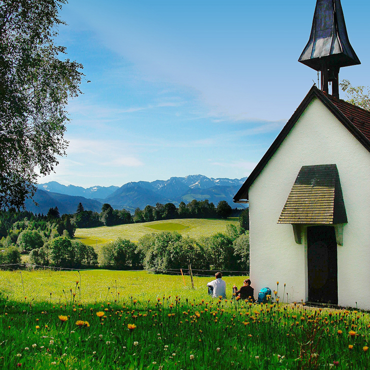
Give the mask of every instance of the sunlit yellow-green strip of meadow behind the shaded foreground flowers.
M 24 292 L 21 277 L 23 278 Z M 231 286 L 235 283 L 242 285 L 243 276 L 225 276 L 226 292 L 230 297 Z M 194 276 L 194 287 L 191 289 L 189 275 L 184 276 L 185 284 L 181 275 L 155 275 L 146 271 L 111 271 L 111 270 L 88 270 L 80 271 L 0 271 L 1 288 L 0 292 L 8 295 L 10 300 L 27 301 L 34 298 L 35 301 L 49 301 L 57 304 L 59 299 L 65 303 L 66 294 L 69 301 L 71 293 L 75 291 L 76 280 L 81 283 L 81 300 L 84 303 L 101 302 L 105 300 L 114 301 L 117 299 L 116 291 L 119 291 L 120 301 L 127 301 L 131 295 L 140 301 L 147 299 L 156 300 L 157 296 L 180 295 L 182 298 L 200 300 L 207 297 L 206 283 L 212 277 Z M 116 289 L 117 287 L 117 289 Z M 108 290 L 108 288 L 110 288 Z M 79 290 L 76 289 L 76 297 Z

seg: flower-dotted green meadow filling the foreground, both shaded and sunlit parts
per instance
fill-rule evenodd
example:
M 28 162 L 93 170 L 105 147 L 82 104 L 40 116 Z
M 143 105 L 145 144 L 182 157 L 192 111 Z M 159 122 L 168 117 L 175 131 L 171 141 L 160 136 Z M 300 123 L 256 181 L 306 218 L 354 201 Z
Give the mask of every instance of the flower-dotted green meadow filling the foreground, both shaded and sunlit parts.
M 76 272 L 22 276 L 26 293 L 19 271 L 0 272 L 1 369 L 370 366 L 367 313 L 284 304 L 281 284 L 261 305 L 212 299 L 203 289 L 207 278 L 192 290 L 177 276 L 144 271 L 82 271 L 80 280 Z M 226 281 L 230 287 L 233 278 Z

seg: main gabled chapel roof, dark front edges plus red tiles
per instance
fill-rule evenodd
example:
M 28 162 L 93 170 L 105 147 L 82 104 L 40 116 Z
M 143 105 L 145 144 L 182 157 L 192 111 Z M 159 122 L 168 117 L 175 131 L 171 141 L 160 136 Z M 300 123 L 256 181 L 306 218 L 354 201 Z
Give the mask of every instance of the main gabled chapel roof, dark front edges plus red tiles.
M 262 159 L 258 162 L 248 178 L 235 194 L 233 198 L 235 203 L 248 202 L 249 186 L 254 182 L 259 173 L 262 171 L 263 167 L 271 159 L 272 155 L 288 135 L 295 122 L 299 119 L 304 109 L 313 98 L 318 98 L 339 120 L 339 122 L 341 122 L 343 126 L 346 127 L 348 131 L 366 148 L 366 150 L 370 152 L 370 112 L 344 100 L 326 95 L 313 85 L 293 115 L 282 128 L 276 139 L 263 155 Z

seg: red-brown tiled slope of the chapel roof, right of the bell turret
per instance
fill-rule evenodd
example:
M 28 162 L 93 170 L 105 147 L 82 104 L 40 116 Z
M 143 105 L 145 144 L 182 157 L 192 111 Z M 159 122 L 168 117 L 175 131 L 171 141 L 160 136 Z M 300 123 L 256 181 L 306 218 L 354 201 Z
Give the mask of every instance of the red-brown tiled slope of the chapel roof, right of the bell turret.
M 326 95 L 330 101 L 370 140 L 370 112 L 344 100 Z

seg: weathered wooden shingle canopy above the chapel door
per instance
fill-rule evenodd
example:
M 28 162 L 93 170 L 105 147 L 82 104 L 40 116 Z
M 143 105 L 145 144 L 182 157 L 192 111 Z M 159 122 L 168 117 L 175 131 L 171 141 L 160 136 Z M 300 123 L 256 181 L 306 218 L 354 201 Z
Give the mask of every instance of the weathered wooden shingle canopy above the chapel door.
M 343 195 L 335 164 L 300 168 L 277 223 L 346 223 Z

